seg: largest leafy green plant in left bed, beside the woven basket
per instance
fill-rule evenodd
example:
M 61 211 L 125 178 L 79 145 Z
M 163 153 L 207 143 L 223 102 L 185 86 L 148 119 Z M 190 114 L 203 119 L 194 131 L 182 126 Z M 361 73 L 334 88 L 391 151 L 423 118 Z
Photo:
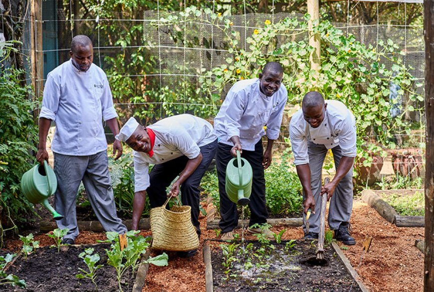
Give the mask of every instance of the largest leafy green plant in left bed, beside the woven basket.
M 133 275 L 139 266 L 140 257 L 146 253 L 150 243 L 148 238 L 143 236 L 136 236 L 138 231 L 131 230 L 127 232 L 127 247 L 122 251 L 119 246 L 119 234 L 116 232 L 107 232 L 107 240 L 102 242 L 111 243 L 110 249 L 106 249 L 108 256 L 107 264 L 114 267 L 117 274 L 117 280 L 119 285 L 119 291 L 122 292 L 121 279 L 124 273 L 131 267 Z M 149 264 L 156 266 L 167 266 L 168 256 L 166 253 L 158 255 L 153 258 L 149 258 L 147 261 Z

